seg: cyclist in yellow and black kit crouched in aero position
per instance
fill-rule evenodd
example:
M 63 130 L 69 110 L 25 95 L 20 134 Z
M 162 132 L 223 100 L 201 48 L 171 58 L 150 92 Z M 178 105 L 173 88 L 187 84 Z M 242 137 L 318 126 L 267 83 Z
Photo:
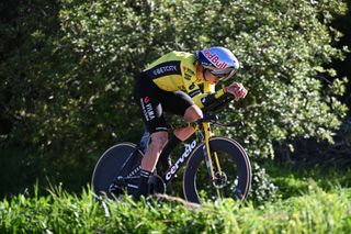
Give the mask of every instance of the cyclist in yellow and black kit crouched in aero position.
M 215 91 L 215 85 L 230 78 L 239 68 L 235 55 L 224 47 L 210 47 L 195 54 L 171 52 L 146 67 L 136 78 L 135 100 L 145 125 L 150 133 L 150 144 L 141 160 L 140 180 L 135 198 L 148 196 L 148 180 L 168 142 L 163 113 L 183 116 L 186 123 L 203 118 L 206 109 L 226 93 L 236 100 L 247 94 L 239 82 Z M 174 131 L 172 142 L 185 141 L 194 132 L 192 126 Z

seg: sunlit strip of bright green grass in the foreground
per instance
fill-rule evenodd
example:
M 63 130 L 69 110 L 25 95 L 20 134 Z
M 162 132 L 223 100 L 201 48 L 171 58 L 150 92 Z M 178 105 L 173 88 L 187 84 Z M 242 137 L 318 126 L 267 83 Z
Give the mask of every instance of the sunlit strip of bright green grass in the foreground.
M 253 207 L 233 200 L 189 208 L 179 202 L 97 202 L 60 188 L 46 197 L 0 202 L 0 233 L 350 233 L 351 189 L 317 183 L 299 196 Z

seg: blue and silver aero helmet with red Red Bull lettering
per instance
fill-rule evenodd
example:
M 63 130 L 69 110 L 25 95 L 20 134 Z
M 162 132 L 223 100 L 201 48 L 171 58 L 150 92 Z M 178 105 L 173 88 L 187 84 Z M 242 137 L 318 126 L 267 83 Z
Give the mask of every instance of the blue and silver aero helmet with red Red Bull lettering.
M 225 47 L 211 47 L 196 52 L 196 60 L 219 79 L 230 78 L 238 69 L 239 62 Z

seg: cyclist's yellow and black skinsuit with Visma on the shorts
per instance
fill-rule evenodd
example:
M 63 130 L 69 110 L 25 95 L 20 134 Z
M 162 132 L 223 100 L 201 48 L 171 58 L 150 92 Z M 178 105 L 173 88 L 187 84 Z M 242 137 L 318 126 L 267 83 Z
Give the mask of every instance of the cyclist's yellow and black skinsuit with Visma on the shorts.
M 192 104 L 201 109 L 224 97 L 214 92 L 214 85 L 196 77 L 196 57 L 184 52 L 171 52 L 155 60 L 136 79 L 135 100 L 150 133 L 167 131 L 163 111 L 184 115 Z

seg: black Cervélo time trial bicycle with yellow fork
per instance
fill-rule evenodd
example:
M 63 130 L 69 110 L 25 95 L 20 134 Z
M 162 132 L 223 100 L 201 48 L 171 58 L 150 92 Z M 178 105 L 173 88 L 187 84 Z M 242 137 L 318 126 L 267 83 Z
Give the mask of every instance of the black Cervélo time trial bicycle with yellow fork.
M 189 202 L 201 203 L 224 198 L 245 200 L 248 197 L 251 166 L 246 151 L 235 140 L 215 136 L 212 130 L 217 121 L 215 113 L 230 100 L 226 97 L 204 111 L 204 118 L 193 124 L 196 137 L 188 140 L 183 152 L 168 169 L 158 174 L 155 171 L 150 177 L 150 193 L 165 193 L 185 165 L 182 187 L 184 199 Z M 169 152 L 165 154 L 168 144 L 160 160 L 169 156 Z M 135 193 L 143 149 L 141 144 L 125 142 L 104 152 L 92 175 L 93 192 L 109 198 Z

